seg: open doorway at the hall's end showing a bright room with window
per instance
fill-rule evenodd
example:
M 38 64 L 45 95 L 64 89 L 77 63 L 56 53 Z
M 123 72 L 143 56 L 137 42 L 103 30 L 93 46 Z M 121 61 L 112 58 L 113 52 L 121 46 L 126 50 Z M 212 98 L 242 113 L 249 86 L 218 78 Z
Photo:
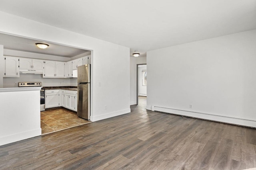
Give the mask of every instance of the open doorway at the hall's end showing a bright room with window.
M 147 98 L 147 64 L 137 64 L 136 104 L 145 103 Z M 145 103 L 146 104 L 146 103 Z

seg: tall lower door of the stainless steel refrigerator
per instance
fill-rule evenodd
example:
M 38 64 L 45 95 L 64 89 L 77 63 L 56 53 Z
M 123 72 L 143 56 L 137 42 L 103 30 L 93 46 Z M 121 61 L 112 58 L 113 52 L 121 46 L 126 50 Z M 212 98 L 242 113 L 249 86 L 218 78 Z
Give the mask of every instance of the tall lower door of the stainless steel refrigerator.
M 90 83 L 77 85 L 77 115 L 90 119 Z

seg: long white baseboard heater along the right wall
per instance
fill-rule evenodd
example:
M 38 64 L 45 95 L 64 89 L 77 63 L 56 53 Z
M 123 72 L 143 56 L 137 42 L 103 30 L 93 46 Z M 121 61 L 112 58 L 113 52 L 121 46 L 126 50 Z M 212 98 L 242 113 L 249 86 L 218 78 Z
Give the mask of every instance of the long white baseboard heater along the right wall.
M 152 111 L 160 111 L 164 113 L 171 113 L 176 115 L 184 115 L 188 117 L 196 117 L 200 119 L 206 119 L 206 120 L 212 120 L 212 121 L 218 121 L 223 123 L 230 123 L 235 125 L 242 125 L 242 126 L 248 126 L 248 127 L 256 127 L 256 121 L 255 120 L 249 120 L 249 119 L 242 119 L 238 117 L 229 117 L 224 115 L 213 115 L 210 113 L 199 113 L 194 111 L 187 111 L 187 110 L 179 110 L 179 109 L 173 109 L 173 108 L 167 108 L 167 107 L 160 107 L 160 106 L 147 106 L 146 109 L 152 110 Z

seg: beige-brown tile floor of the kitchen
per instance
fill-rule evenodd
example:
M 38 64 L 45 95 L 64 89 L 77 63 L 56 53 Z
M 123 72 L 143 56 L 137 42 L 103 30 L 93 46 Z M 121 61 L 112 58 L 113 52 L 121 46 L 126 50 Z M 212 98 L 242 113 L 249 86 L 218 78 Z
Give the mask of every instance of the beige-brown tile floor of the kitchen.
M 76 112 L 65 108 L 41 111 L 42 135 L 86 123 L 90 121 L 78 117 Z

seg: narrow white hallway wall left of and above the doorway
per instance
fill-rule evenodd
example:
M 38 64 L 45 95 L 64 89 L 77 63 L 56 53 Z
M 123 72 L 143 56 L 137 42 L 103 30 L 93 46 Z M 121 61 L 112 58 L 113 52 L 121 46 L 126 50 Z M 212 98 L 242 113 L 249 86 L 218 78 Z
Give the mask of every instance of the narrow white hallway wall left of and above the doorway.
M 130 105 L 136 104 L 137 89 L 137 64 L 146 64 L 146 57 L 130 57 Z

